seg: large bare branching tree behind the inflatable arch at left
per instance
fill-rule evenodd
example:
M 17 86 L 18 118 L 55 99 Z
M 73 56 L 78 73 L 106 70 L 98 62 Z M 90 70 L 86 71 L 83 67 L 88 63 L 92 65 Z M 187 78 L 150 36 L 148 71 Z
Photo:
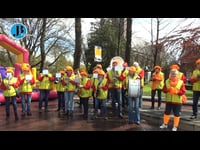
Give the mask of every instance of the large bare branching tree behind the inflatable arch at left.
M 0 20 L 0 30 L 9 36 L 7 26 L 15 22 L 23 23 L 27 27 L 28 34 L 19 42 L 29 51 L 31 66 L 41 71 L 47 57 L 51 58 L 48 64 L 51 66 L 74 46 L 74 39 L 71 39 L 69 34 L 73 25 L 68 25 L 65 21 L 66 19 L 62 18 L 8 18 Z M 60 47 L 60 53 L 56 57 L 50 57 L 50 52 L 55 47 Z

